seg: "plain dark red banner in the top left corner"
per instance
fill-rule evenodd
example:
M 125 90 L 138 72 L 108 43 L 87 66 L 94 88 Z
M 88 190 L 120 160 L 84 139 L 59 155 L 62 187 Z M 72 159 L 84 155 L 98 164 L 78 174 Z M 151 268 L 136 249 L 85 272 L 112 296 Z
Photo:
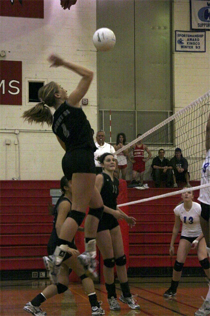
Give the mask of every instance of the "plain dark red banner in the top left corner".
M 0 0 L 0 16 L 43 19 L 44 0 Z

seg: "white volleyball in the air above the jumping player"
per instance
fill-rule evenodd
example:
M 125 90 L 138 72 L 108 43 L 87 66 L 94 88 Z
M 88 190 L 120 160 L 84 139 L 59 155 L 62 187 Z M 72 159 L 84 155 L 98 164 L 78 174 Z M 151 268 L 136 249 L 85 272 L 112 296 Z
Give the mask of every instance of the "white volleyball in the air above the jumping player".
M 114 47 L 116 40 L 115 35 L 111 30 L 101 28 L 95 31 L 92 41 L 98 51 L 107 52 Z

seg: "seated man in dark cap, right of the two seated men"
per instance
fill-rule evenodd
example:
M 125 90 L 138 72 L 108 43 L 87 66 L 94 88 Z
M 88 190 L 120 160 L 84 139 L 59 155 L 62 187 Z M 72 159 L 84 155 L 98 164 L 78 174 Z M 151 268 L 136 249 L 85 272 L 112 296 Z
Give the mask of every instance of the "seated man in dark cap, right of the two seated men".
M 177 188 L 177 181 L 186 182 L 186 186 L 189 185 L 189 173 L 187 171 L 188 162 L 182 156 L 181 149 L 175 148 L 175 155 L 170 160 L 170 165 L 173 168 L 173 188 Z

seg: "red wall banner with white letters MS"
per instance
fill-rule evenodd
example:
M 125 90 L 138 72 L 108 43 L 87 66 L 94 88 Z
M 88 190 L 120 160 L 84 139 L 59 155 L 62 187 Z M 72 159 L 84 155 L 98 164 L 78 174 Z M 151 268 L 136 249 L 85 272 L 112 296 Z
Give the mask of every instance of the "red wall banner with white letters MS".
M 0 105 L 22 105 L 22 62 L 0 60 Z

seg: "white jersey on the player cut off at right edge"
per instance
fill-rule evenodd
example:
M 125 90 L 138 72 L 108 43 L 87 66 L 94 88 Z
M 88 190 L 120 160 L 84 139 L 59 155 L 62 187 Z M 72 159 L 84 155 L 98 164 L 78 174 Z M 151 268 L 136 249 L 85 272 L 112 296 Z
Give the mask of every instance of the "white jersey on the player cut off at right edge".
M 206 152 L 205 160 L 202 164 L 200 185 L 210 183 L 210 149 Z M 210 205 L 210 187 L 200 189 L 200 195 L 197 199 L 202 203 Z

